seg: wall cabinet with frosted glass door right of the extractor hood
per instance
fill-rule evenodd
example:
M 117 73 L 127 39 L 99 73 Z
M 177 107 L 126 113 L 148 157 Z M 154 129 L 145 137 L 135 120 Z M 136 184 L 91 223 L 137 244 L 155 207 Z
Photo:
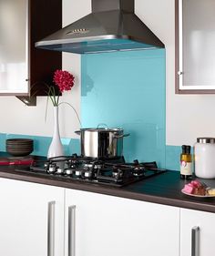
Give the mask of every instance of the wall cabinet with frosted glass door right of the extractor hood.
M 175 3 L 176 91 L 215 93 L 215 1 Z

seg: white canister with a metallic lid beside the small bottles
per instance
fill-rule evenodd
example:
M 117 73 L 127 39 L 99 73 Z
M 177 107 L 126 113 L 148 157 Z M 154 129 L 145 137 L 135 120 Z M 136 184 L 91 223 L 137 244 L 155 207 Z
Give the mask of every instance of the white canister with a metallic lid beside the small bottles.
M 197 177 L 215 178 L 215 138 L 197 138 L 194 145 L 194 165 Z

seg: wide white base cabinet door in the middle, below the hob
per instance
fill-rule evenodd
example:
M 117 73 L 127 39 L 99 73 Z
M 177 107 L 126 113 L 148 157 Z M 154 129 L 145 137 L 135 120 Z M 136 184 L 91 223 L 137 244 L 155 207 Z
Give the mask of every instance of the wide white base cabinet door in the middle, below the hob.
M 67 189 L 67 221 L 69 256 L 179 255 L 174 207 Z

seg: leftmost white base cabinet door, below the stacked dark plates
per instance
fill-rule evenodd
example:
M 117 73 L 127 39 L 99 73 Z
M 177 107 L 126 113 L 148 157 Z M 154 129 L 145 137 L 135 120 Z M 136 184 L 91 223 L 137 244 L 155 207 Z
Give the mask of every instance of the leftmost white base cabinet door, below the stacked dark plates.
M 0 255 L 63 256 L 64 189 L 0 179 L 0 206 Z

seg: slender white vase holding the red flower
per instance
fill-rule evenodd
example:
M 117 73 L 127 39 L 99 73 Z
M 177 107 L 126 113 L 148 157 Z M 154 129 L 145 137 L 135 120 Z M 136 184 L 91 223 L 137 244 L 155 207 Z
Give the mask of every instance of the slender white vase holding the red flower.
M 52 142 L 48 148 L 47 159 L 64 156 L 63 144 L 60 140 L 58 107 L 54 107 L 54 134 Z

